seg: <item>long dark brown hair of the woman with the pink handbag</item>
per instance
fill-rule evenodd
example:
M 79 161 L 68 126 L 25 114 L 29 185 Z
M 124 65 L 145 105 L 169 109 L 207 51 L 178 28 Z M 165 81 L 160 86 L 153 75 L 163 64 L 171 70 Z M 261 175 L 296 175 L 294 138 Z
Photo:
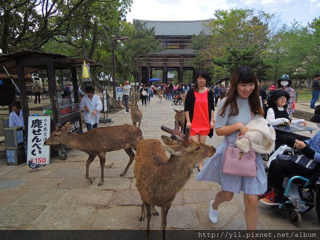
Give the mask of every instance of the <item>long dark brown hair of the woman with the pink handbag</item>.
M 261 115 L 263 116 L 263 109 L 260 104 L 260 97 L 259 97 L 259 87 L 258 87 L 258 81 L 256 78 L 256 74 L 254 70 L 251 67 L 248 66 L 242 66 L 238 67 L 232 77 L 231 77 L 231 86 L 228 92 L 225 95 L 225 103 L 224 106 L 219 111 L 219 115 L 224 117 L 226 108 L 230 105 L 230 116 L 236 116 L 239 114 L 239 108 L 237 105 L 237 86 L 240 84 L 255 84 L 255 89 L 252 91 L 252 93 L 249 95 L 249 105 L 251 110 L 255 115 Z

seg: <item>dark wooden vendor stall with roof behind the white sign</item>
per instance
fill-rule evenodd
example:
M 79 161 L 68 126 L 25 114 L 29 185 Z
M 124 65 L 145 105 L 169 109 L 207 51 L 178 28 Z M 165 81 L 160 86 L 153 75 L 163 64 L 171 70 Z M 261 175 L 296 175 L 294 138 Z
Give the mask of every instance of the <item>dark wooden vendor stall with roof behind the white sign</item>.
M 25 75 L 41 69 L 47 71 L 51 109 L 45 109 L 45 111 L 48 111 L 51 116 L 52 131 L 55 129 L 57 123 L 64 124 L 67 121 L 71 121 L 71 123 L 74 124 L 72 131 L 78 133 L 82 132 L 78 91 L 74 91 L 73 98 L 61 98 L 58 96 L 55 71 L 60 69 L 71 70 L 73 89 L 77 90 L 78 81 L 76 68 L 81 67 L 84 60 L 89 63 L 91 67 L 102 66 L 101 64 L 86 58 L 70 58 L 62 54 L 32 50 L 22 50 L 0 56 L 0 73 L 6 73 L 6 69 L 10 75 L 17 75 L 18 77 L 17 85 L 21 91 L 21 105 L 26 130 L 26 139 L 28 139 L 28 116 L 30 116 L 30 114 L 27 101 Z M 12 91 L 12 95 L 14 94 L 15 92 Z M 63 146 L 58 146 L 56 149 L 59 150 L 60 158 L 62 160 L 66 159 Z

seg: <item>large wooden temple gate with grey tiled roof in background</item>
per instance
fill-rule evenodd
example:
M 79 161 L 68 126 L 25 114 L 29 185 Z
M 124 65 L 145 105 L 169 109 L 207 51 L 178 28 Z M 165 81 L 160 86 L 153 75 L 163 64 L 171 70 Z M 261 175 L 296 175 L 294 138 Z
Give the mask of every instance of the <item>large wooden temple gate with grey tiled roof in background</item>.
M 199 21 L 145 21 L 134 19 L 134 22 L 145 24 L 148 29 L 154 28 L 156 40 L 161 39 L 161 45 L 165 50 L 157 53 L 139 55 L 136 65 L 141 69 L 141 82 L 148 83 L 153 78 L 154 70 L 162 71 L 163 83 L 170 82 L 170 71 L 178 72 L 178 82 L 183 82 L 183 74 L 186 70 L 195 71 L 190 60 L 195 58 L 195 51 L 190 47 L 192 35 L 201 32 L 210 35 L 207 25 L 211 20 Z M 172 75 L 172 74 L 171 74 Z M 169 77 L 168 77 L 169 76 Z

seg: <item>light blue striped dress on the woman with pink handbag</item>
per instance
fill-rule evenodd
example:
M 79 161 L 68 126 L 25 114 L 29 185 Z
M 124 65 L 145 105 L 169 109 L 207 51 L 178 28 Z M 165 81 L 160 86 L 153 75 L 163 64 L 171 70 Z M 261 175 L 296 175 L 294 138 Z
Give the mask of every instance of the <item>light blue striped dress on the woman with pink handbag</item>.
M 237 98 L 239 114 L 237 116 L 230 116 L 230 108 L 226 109 L 224 118 L 219 115 L 221 107 L 224 105 L 225 98 L 221 100 L 220 106 L 216 111 L 216 128 L 228 126 L 236 122 L 242 122 L 245 125 L 252 120 L 251 110 L 248 99 Z M 255 118 L 257 118 L 255 116 Z M 227 148 L 226 138 L 228 139 L 229 146 L 232 146 L 239 131 L 231 133 L 224 137 L 224 141 L 216 147 L 216 153 L 207 161 L 207 164 L 196 176 L 196 180 L 214 181 L 221 185 L 221 189 L 233 193 L 240 193 L 243 191 L 245 194 L 259 195 L 267 190 L 267 177 L 265 174 L 263 161 L 261 155 L 256 153 L 257 164 L 257 177 L 238 177 L 222 172 L 222 165 L 224 159 L 224 151 Z

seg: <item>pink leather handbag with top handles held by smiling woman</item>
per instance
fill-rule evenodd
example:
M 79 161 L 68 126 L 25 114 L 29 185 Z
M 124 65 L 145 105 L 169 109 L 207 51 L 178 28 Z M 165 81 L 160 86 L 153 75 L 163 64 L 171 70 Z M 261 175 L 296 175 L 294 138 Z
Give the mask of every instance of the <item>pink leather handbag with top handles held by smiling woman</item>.
M 256 177 L 256 152 L 252 150 L 251 141 L 249 138 L 250 151 L 247 153 L 235 148 L 235 141 L 239 138 L 247 138 L 246 136 L 237 137 L 233 146 L 227 147 L 224 152 L 224 163 L 222 172 L 225 174 L 235 175 L 239 177 Z M 227 141 L 227 145 L 228 141 Z

